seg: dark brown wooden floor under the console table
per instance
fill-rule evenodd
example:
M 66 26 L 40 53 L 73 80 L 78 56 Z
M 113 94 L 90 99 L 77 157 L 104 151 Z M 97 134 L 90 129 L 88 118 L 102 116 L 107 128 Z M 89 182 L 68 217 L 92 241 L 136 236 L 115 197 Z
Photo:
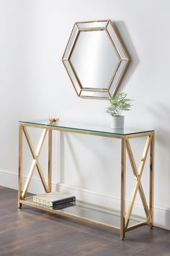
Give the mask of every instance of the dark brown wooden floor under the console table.
M 0 187 L 0 255 L 168 256 L 170 231 L 143 226 L 121 241 L 114 231 L 26 206 L 18 210 L 17 191 Z

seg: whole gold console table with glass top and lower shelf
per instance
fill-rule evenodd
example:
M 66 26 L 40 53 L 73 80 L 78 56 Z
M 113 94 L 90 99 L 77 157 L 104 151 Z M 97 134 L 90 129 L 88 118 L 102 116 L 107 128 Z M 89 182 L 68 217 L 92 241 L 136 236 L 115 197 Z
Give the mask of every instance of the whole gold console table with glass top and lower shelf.
M 32 141 L 27 127 L 34 127 L 36 129 L 43 129 L 42 137 L 40 139 L 39 146 L 37 150 L 34 149 Z M 76 205 L 69 208 L 63 208 L 61 210 L 54 210 L 48 206 L 38 205 L 33 202 L 32 197 L 27 197 L 27 189 L 29 188 L 30 181 L 32 179 L 32 174 L 37 167 L 37 171 L 40 174 L 40 179 L 45 192 L 51 192 L 51 177 L 52 177 L 52 132 L 53 130 L 62 132 L 74 132 L 85 135 L 95 135 L 110 137 L 113 139 L 121 140 L 121 203 L 120 203 L 120 214 L 115 213 L 111 209 L 99 208 L 99 205 L 91 205 L 90 203 L 81 202 L 76 200 Z M 27 140 L 27 143 L 32 154 L 32 166 L 30 172 L 27 176 L 27 181 L 24 186 L 22 186 L 22 156 L 23 156 L 23 135 Z M 45 137 L 48 135 L 48 181 L 45 181 L 45 177 L 42 173 L 38 157 L 42 149 Z M 130 146 L 130 139 L 136 137 L 146 137 L 146 144 L 143 149 L 143 154 L 140 159 L 139 168 L 137 168 L 133 151 Z M 143 192 L 143 187 L 141 184 L 141 176 L 143 174 L 143 168 L 146 162 L 146 157 L 150 154 L 150 181 L 149 181 L 149 202 L 146 200 L 146 196 Z M 125 210 L 125 162 L 126 153 L 130 159 L 132 166 L 135 185 L 133 187 L 133 195 L 130 199 L 130 204 L 128 209 Z M 59 124 L 49 124 L 48 121 L 19 121 L 19 188 L 18 188 L 18 207 L 21 208 L 23 205 L 29 205 L 33 208 L 38 208 L 41 210 L 48 211 L 50 213 L 55 213 L 60 216 L 67 216 L 70 218 L 78 219 L 81 221 L 86 221 L 90 223 L 97 224 L 109 229 L 114 229 L 120 232 L 120 238 L 125 238 L 125 232 L 132 229 L 136 229 L 143 225 L 148 225 L 153 227 L 153 163 L 154 163 L 154 131 L 153 130 L 121 130 L 121 129 L 111 129 L 109 127 L 93 127 L 85 124 L 79 124 L 76 122 L 64 122 L 59 121 Z M 135 197 L 137 192 L 140 194 L 141 201 L 143 203 L 143 209 L 146 213 L 146 219 L 144 221 L 133 220 L 130 218 L 133 205 L 135 202 Z M 101 210 L 102 209 L 102 210 Z

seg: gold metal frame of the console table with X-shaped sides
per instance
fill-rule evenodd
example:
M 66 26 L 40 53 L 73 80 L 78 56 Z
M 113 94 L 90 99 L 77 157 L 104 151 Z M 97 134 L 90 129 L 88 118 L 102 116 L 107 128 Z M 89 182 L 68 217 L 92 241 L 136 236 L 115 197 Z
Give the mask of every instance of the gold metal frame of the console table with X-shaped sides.
M 42 137 L 40 139 L 39 146 L 35 151 L 32 141 L 30 139 L 30 135 L 28 133 L 27 127 L 35 127 L 43 129 Z M 66 213 L 61 210 L 53 210 L 51 208 L 44 208 L 42 205 L 36 205 L 33 202 L 27 200 L 27 190 L 30 185 L 30 181 L 32 179 L 32 174 L 35 171 L 35 167 L 37 167 L 37 171 L 40 175 L 40 179 L 42 185 L 45 189 L 45 192 L 51 192 L 51 182 L 52 182 L 52 131 L 58 130 L 63 132 L 76 132 L 86 135 L 97 135 L 103 137 L 112 137 L 121 140 L 121 203 L 120 203 L 120 228 L 112 225 L 108 225 L 107 223 L 100 223 L 99 221 L 92 221 L 88 218 L 82 218 L 81 216 L 76 216 L 71 213 Z M 48 182 L 45 182 L 45 177 L 42 173 L 42 169 L 40 167 L 40 163 L 38 161 L 38 157 L 40 155 L 40 151 L 42 149 L 42 145 L 45 141 L 45 137 L 48 134 Z M 22 187 L 22 156 L 23 156 L 23 135 L 27 140 L 27 144 L 29 145 L 30 152 L 32 154 L 32 166 L 30 168 L 30 172 L 27 176 L 27 181 Z M 140 159 L 139 168 L 137 168 L 134 157 L 133 151 L 130 146 L 130 139 L 136 137 L 146 137 L 146 144 L 143 149 L 143 154 Z M 117 132 L 101 132 L 101 131 L 94 131 L 92 129 L 78 129 L 75 127 L 66 127 L 61 125 L 51 125 L 48 123 L 35 123 L 29 121 L 19 121 L 19 188 L 18 188 L 18 207 L 21 208 L 23 205 L 29 205 L 34 208 L 39 208 L 41 210 L 46 210 L 50 213 L 55 213 L 61 216 L 68 216 L 70 218 L 78 219 L 81 221 L 86 221 L 90 223 L 97 224 L 98 226 L 102 226 L 109 229 L 114 229 L 115 231 L 120 231 L 120 238 L 125 239 L 125 232 L 130 231 L 132 229 L 136 229 L 143 225 L 148 225 L 150 228 L 153 228 L 153 163 L 154 163 L 154 131 L 144 131 L 144 132 L 133 132 L 133 133 L 117 133 Z M 150 152 L 150 181 L 149 181 L 149 203 L 147 203 L 146 196 L 143 192 L 143 187 L 141 184 L 141 176 L 143 174 L 143 168 L 146 163 L 146 157 L 148 155 L 148 151 Z M 130 204 L 128 206 L 128 210 L 125 211 L 125 162 L 126 162 L 126 153 L 128 153 L 128 157 L 130 160 L 130 164 L 133 170 L 133 174 L 135 177 L 135 185 L 133 188 L 133 194 L 130 199 Z M 143 208 L 146 213 L 146 221 L 142 221 L 140 223 L 136 223 L 133 226 L 128 226 L 130 222 L 130 216 L 133 210 L 133 205 L 135 203 L 135 197 L 137 192 L 140 194 L 141 201 L 143 203 Z

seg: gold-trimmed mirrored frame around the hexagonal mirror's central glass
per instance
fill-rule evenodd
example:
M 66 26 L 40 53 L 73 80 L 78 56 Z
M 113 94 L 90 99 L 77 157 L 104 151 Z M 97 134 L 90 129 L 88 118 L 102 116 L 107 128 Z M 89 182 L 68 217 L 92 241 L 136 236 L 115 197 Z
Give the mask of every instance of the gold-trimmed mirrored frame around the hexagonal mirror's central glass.
M 118 61 L 117 66 L 113 69 L 112 78 L 109 81 L 107 88 L 86 88 L 81 84 L 79 76 L 76 72 L 76 69 L 71 63 L 71 55 L 73 50 L 76 48 L 76 43 L 79 40 L 79 35 L 81 32 L 93 32 L 93 31 L 104 31 L 109 41 L 112 45 L 113 50 L 117 54 Z M 68 40 L 66 50 L 64 51 L 63 64 L 66 67 L 68 76 L 71 79 L 76 94 L 81 98 L 100 98 L 100 99 L 109 99 L 115 96 L 117 89 L 120 86 L 122 77 L 125 74 L 125 70 L 128 67 L 130 58 L 128 56 L 125 47 L 122 45 L 120 37 L 117 35 L 115 27 L 112 25 L 111 20 L 98 20 L 90 22 L 76 22 L 71 31 L 70 38 Z

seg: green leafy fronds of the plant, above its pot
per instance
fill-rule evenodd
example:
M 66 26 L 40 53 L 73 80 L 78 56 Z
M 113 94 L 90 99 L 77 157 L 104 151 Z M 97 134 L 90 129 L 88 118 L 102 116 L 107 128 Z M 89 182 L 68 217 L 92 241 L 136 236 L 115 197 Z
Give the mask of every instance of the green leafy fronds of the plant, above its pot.
M 107 108 L 107 114 L 110 116 L 120 116 L 122 111 L 130 111 L 131 104 L 129 98 L 126 98 L 126 93 L 118 93 L 117 96 L 109 100 L 110 106 Z

